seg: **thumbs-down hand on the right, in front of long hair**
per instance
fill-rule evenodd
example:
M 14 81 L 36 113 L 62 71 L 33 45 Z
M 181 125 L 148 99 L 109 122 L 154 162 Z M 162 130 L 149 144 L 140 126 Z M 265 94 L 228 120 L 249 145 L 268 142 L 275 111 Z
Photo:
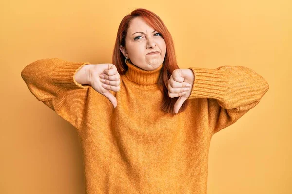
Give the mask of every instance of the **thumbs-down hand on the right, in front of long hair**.
M 194 73 L 191 69 L 175 69 L 168 80 L 168 96 L 179 97 L 174 104 L 174 112 L 178 113 L 183 102 L 191 95 Z

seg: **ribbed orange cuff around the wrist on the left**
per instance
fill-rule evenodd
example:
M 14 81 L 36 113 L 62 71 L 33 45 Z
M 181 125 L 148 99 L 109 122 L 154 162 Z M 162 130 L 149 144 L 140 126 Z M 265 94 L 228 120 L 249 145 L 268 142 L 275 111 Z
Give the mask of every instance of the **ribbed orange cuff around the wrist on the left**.
M 61 86 L 63 90 L 86 89 L 90 87 L 88 84 L 82 85 L 78 83 L 74 78 L 75 74 L 84 65 L 90 64 L 90 62 L 69 62 L 58 58 L 54 60 L 58 60 L 52 73 L 52 82 L 54 84 Z

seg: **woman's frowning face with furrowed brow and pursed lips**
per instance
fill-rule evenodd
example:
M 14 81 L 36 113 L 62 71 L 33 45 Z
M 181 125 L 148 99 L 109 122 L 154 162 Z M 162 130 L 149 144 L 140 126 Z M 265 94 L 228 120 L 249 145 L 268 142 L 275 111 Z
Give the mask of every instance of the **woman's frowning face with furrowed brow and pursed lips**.
M 151 28 L 141 17 L 134 18 L 129 25 L 125 39 L 125 47 L 120 46 L 127 60 L 144 69 L 157 69 L 164 61 L 166 53 L 165 41 L 162 35 Z M 157 51 L 156 54 L 148 54 Z

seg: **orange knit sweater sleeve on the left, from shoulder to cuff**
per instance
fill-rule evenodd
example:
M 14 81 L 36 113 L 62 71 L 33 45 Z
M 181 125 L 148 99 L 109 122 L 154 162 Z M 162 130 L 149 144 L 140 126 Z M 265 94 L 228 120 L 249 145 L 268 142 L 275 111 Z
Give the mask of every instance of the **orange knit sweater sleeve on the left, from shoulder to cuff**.
M 74 75 L 86 64 L 90 63 L 40 59 L 27 65 L 21 77 L 39 101 L 78 128 L 90 85 L 79 84 Z

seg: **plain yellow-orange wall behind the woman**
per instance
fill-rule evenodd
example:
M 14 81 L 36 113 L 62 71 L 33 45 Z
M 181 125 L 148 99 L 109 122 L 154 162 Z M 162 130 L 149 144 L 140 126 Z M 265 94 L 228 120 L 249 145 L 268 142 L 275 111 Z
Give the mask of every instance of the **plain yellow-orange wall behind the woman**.
M 243 65 L 269 83 L 261 102 L 211 140 L 208 194 L 292 193 L 291 0 L 52 0 L 1 2 L 1 194 L 84 194 L 73 126 L 30 93 L 29 63 L 111 63 L 118 26 L 153 11 L 180 68 Z

